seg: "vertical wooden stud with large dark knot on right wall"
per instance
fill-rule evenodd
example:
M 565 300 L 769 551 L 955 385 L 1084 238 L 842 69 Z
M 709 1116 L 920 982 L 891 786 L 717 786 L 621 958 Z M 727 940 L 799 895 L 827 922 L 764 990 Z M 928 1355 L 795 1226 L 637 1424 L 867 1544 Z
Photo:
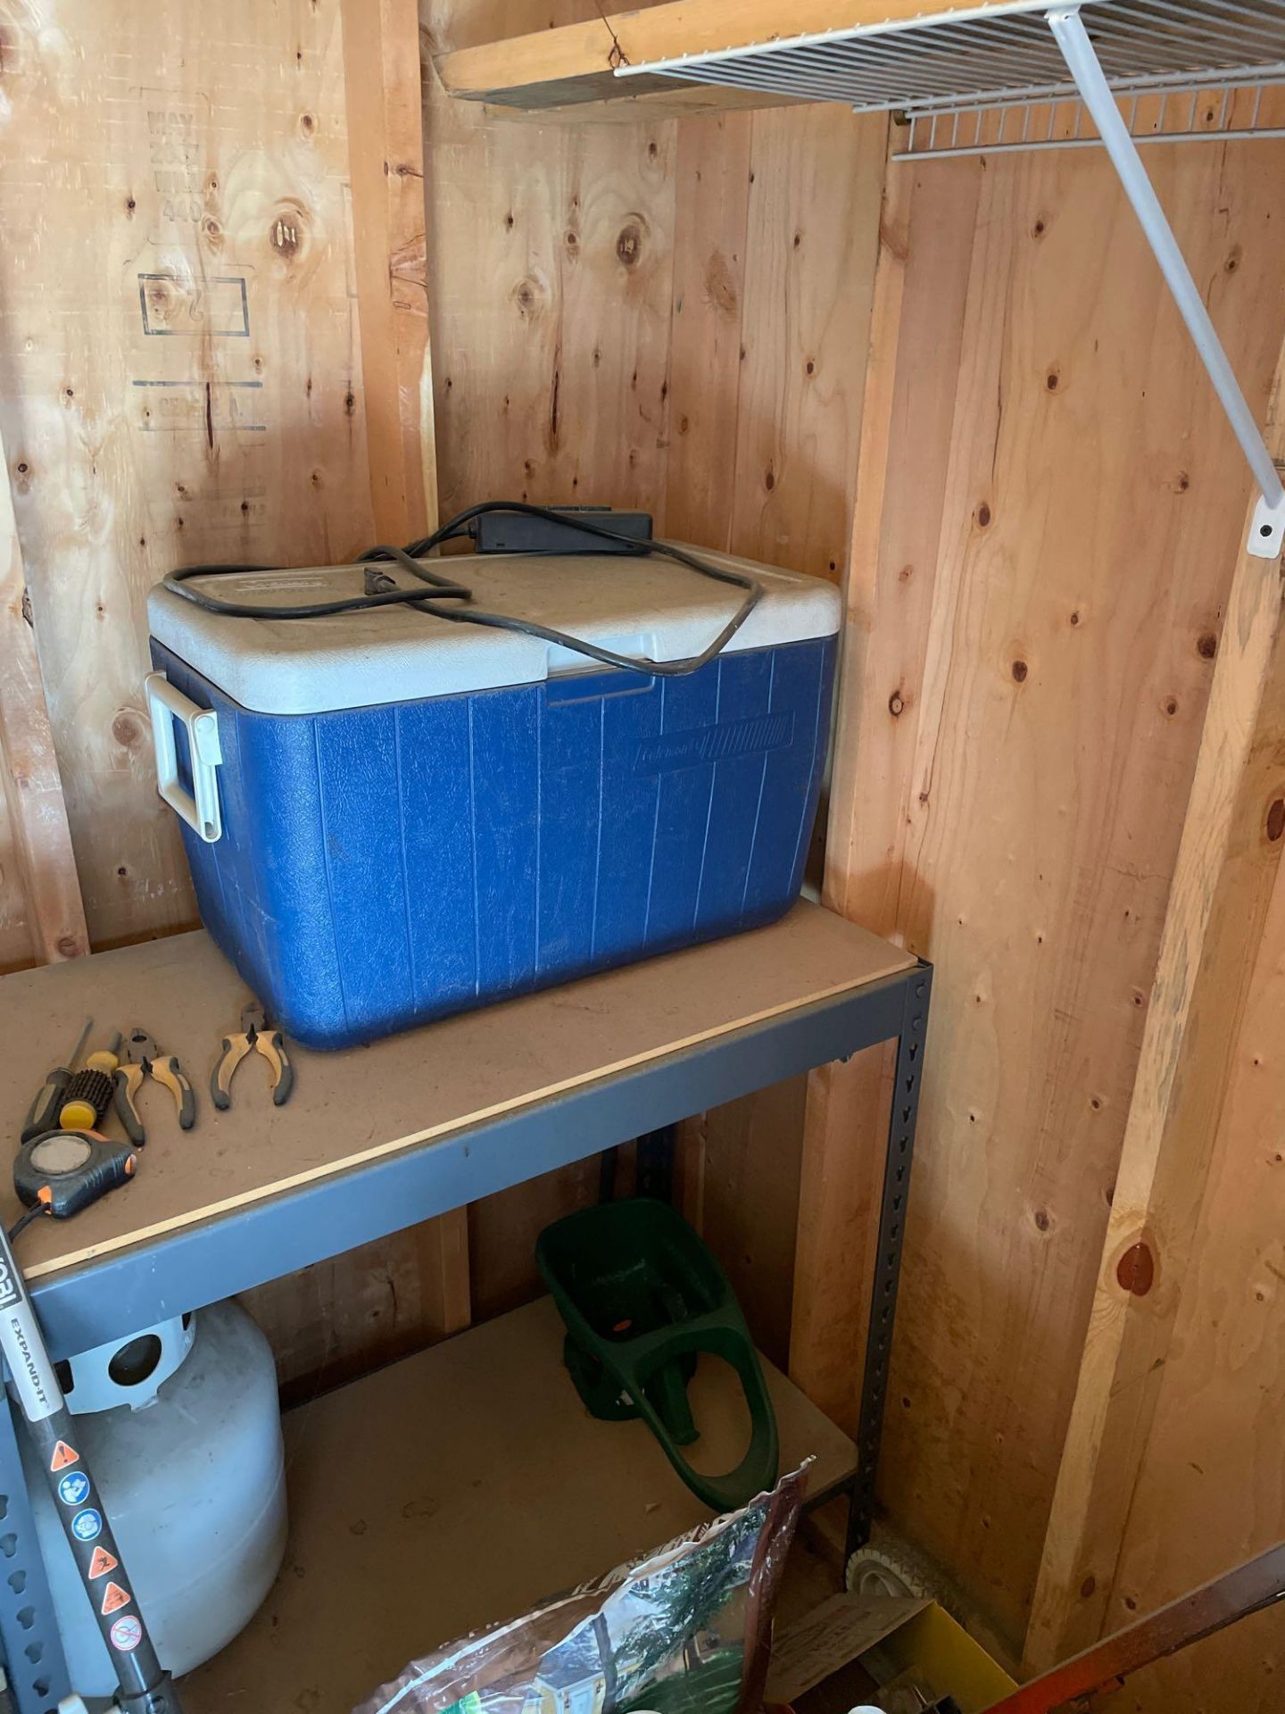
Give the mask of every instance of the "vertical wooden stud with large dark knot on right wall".
M 1285 348 L 1268 418 L 1276 461 L 1283 386 Z M 1252 506 L 1246 533 L 1249 518 Z M 1102 1630 L 1285 843 L 1273 818 L 1283 764 L 1280 566 L 1242 550 L 1026 1637 L 1033 1669 Z

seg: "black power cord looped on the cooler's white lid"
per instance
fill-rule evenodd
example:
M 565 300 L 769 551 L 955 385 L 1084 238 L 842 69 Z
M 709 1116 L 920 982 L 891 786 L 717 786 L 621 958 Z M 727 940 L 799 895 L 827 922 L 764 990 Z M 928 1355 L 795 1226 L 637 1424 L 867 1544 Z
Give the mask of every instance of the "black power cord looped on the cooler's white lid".
M 617 655 L 615 650 L 600 648 L 596 643 L 586 643 L 584 638 L 569 636 L 565 631 L 555 631 L 552 626 L 536 624 L 533 619 L 514 619 L 511 614 L 490 614 L 480 607 L 440 605 L 444 602 L 471 602 L 473 591 L 461 583 L 452 583 L 449 578 L 437 576 L 427 566 L 421 566 L 420 560 L 444 542 L 452 542 L 466 535 L 468 524 L 473 523 L 475 518 L 481 518 L 485 512 L 526 512 L 529 518 L 547 518 L 564 526 L 571 524 L 584 535 L 598 536 L 603 542 L 624 547 L 625 554 L 636 559 L 646 559 L 649 554 L 656 554 L 661 559 L 670 559 L 678 566 L 687 566 L 690 571 L 697 571 L 702 578 L 713 578 L 716 583 L 728 583 L 733 588 L 745 590 L 745 600 L 740 603 L 732 619 L 728 619 L 713 643 L 701 650 L 699 655 L 690 655 L 685 660 L 649 660 L 646 655 Z M 535 554 L 531 557 L 538 559 L 541 555 Z M 163 579 L 163 586 L 171 590 L 175 595 L 182 595 L 183 600 L 192 602 L 204 612 L 223 614 L 228 619 L 324 619 L 331 614 L 353 614 L 379 607 L 413 607 L 420 614 L 430 614 L 433 619 L 447 619 L 452 624 L 488 626 L 493 631 L 517 631 L 524 636 L 541 638 L 545 643 L 557 643 L 560 648 L 569 648 L 577 655 L 588 655 L 589 660 L 598 660 L 605 667 L 624 667 L 629 672 L 661 674 L 665 677 L 682 677 L 684 674 L 697 672 L 720 655 L 762 598 L 762 584 L 757 578 L 750 578 L 740 571 L 725 571 L 721 566 L 711 566 L 708 560 L 697 559 L 696 554 L 687 554 L 684 548 L 673 547 L 672 542 L 637 542 L 632 536 L 624 536 L 615 530 L 608 530 L 605 524 L 591 523 L 583 514 L 557 512 L 550 511 L 547 506 L 529 506 L 526 500 L 481 500 L 478 506 L 469 506 L 463 512 L 457 512 L 452 519 L 449 519 L 449 523 L 433 530 L 432 535 L 421 536 L 418 542 L 411 542 L 406 547 L 380 545 L 367 548 L 367 552 L 358 557 L 358 564 L 399 566 L 420 583 L 428 584 L 432 593 L 425 595 L 415 588 L 380 588 L 379 584 L 387 583 L 389 579 L 379 579 L 374 576 L 368 578 L 365 595 L 351 595 L 338 602 L 312 602 L 305 607 L 254 607 L 245 602 L 224 602 L 219 596 L 206 595 L 200 590 L 194 590 L 188 581 L 192 578 L 221 578 L 247 571 L 278 571 L 279 567 L 276 566 L 187 566 L 182 571 L 170 572 L 170 576 Z

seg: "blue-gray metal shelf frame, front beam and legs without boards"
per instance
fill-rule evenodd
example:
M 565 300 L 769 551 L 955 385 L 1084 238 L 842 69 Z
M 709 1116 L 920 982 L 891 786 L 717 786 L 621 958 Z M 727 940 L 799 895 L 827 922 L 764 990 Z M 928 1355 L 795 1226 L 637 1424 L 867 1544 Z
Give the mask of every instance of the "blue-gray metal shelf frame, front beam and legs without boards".
M 930 994 L 932 967 L 920 962 L 404 1154 L 38 1279 L 31 1294 L 50 1352 L 57 1361 L 204 1308 L 644 1131 L 894 1040 L 896 1087 L 857 1433 L 858 1471 L 850 1484 L 852 1551 L 869 1539 L 876 1505 Z M 0 1411 L 0 1647 L 17 1714 L 57 1714 L 58 1700 L 72 1687 L 9 1411 Z

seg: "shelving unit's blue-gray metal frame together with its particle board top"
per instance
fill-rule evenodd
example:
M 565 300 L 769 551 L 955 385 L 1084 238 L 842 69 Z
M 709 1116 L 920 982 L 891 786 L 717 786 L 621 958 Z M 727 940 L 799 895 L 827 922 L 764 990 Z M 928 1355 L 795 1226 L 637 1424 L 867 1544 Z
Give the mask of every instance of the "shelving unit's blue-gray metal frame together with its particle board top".
M 752 994 L 747 972 L 754 975 Z M 368 1049 L 298 1052 L 298 1094 L 290 1107 L 243 1102 L 231 1114 L 204 1112 L 197 1131 L 158 1136 L 149 1145 L 139 1184 L 77 1220 L 31 1229 L 31 1262 L 26 1248 L 19 1253 L 31 1267 L 31 1291 L 51 1354 L 57 1359 L 137 1332 L 706 1107 L 894 1040 L 896 1099 L 872 1282 L 858 1469 L 852 1481 L 850 1544 L 857 1546 L 869 1534 L 874 1508 L 930 987 L 929 965 L 817 907 L 800 905 L 781 924 L 756 934 L 589 977 Z M 166 1046 L 195 1064 L 197 1049 L 188 1040 L 211 1039 L 218 1022 L 235 1015 L 238 989 L 235 972 L 197 934 L 9 977 L 0 984 L 0 1022 L 10 1006 L 14 1020 L 24 1020 L 26 1039 L 57 1040 L 63 1018 L 82 1015 L 91 996 L 96 1015 L 108 1016 L 135 1010 L 137 996 L 151 994 L 151 1015 L 170 1018 Z M 725 999 L 720 1016 L 704 1016 L 702 994 L 733 992 L 738 998 Z M 666 994 L 673 996 L 668 1006 L 658 1008 L 654 998 Z M 631 1006 L 661 1022 L 651 1027 L 646 1052 L 622 1063 L 612 1032 L 622 1046 L 637 1046 Z M 516 1083 L 502 1111 L 483 1116 L 454 1112 L 454 1119 L 449 1114 L 442 1119 L 433 1111 L 427 1087 L 435 1075 L 435 1052 L 493 1059 L 507 1032 L 517 1046 L 540 1042 L 540 1075 L 548 1078 L 562 1047 L 571 1052 L 567 1044 L 583 1039 L 586 1010 L 605 1020 L 603 1051 L 612 1056 L 598 1073 L 581 1068 L 574 1083 L 545 1095 L 533 1076 L 526 1095 Z M 433 1119 L 425 1126 L 427 1135 L 404 1131 L 401 1111 L 377 1114 L 375 1133 L 382 1135 L 382 1126 L 391 1133 L 389 1143 L 351 1164 L 344 1133 L 370 1135 L 368 1090 L 409 1083 L 404 1099 L 416 1107 L 416 1080 L 425 1085 L 423 1116 Z M 21 1095 L 14 1088 L 14 1111 L 0 1112 L 10 1130 Z M 473 1100 L 478 1099 L 475 1092 Z M 308 1100 L 315 1104 L 314 1126 L 324 1118 L 327 1133 L 336 1136 L 334 1147 L 324 1166 L 295 1174 L 295 1183 L 279 1183 L 264 1166 L 274 1147 L 272 1128 L 293 1124 L 305 1135 Z M 290 1136 L 278 1131 L 283 1159 L 295 1131 Z M 207 1202 L 214 1196 L 211 1186 L 218 1188 L 231 1171 L 226 1150 L 236 1157 L 231 1169 L 243 1159 L 250 1190 L 240 1205 L 206 1212 L 214 1205 Z M 152 1171 L 156 1179 L 149 1188 Z M 161 1214 L 164 1231 L 158 1231 Z M 67 1669 L 7 1412 L 0 1412 L 0 1644 L 10 1693 L 19 1714 L 53 1714 L 69 1692 Z

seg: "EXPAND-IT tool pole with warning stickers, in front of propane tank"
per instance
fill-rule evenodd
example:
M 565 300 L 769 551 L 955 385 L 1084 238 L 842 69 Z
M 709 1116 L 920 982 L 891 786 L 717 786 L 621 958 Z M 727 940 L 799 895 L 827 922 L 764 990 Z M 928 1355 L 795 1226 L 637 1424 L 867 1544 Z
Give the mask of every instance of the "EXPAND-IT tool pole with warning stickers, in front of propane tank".
M 122 1714 L 180 1714 L 178 1697 L 170 1675 L 156 1659 L 120 1544 L 87 1467 L 81 1429 L 67 1409 L 22 1270 L 2 1231 L 0 1311 L 0 1354 L 94 1611 L 94 1623 L 111 1657 L 120 1687 L 117 1707 Z

